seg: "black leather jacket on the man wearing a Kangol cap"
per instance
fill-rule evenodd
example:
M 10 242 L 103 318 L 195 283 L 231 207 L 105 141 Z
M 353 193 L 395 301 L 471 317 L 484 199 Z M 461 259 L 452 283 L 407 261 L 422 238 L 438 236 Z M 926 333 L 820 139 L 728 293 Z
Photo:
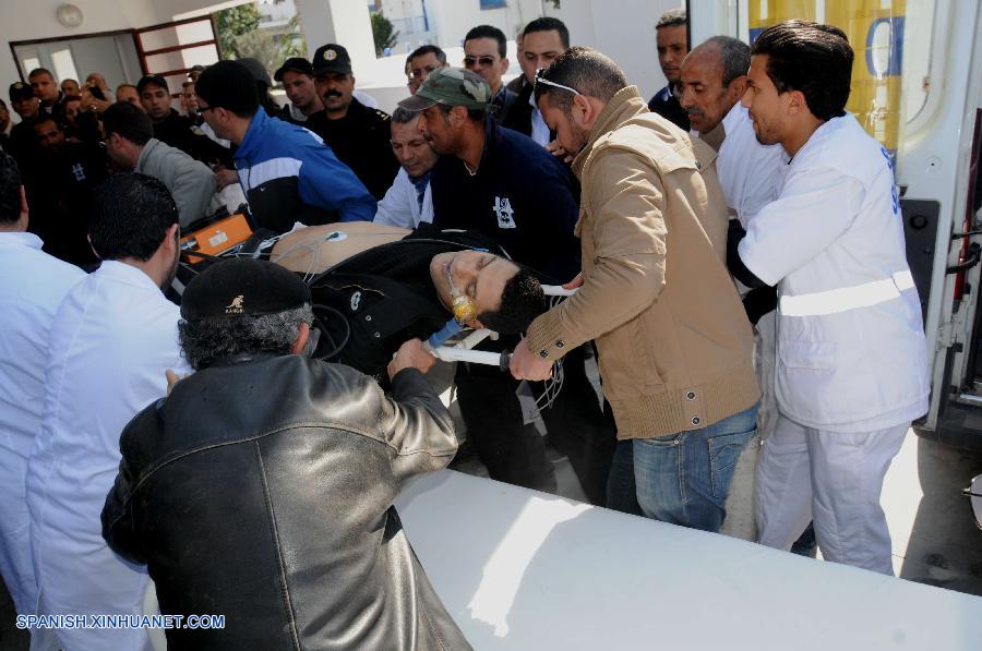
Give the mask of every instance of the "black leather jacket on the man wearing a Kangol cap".
M 446 466 L 453 420 L 415 369 L 386 397 L 300 355 L 181 381 L 123 431 L 103 537 L 148 565 L 171 649 L 469 649 L 427 580 L 393 499 Z

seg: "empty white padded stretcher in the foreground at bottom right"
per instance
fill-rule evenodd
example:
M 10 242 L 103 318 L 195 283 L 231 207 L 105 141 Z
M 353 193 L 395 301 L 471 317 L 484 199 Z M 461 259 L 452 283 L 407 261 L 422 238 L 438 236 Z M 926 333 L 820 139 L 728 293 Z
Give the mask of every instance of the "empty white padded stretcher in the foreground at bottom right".
M 481 651 L 969 651 L 982 598 L 444 470 L 396 501 Z

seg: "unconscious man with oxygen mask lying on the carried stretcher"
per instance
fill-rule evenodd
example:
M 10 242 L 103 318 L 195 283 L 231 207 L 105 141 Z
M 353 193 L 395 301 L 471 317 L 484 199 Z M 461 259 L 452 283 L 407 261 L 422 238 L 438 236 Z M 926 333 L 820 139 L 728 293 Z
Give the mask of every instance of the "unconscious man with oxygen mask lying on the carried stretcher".
M 331 318 L 321 324 L 327 341 L 318 353 L 337 349 L 326 357 L 379 374 L 403 341 L 440 330 L 447 311 L 501 334 L 522 333 L 544 312 L 539 280 L 496 251 L 472 232 L 356 221 L 288 233 L 270 260 L 303 274 L 315 303 L 345 316 L 347 333 Z

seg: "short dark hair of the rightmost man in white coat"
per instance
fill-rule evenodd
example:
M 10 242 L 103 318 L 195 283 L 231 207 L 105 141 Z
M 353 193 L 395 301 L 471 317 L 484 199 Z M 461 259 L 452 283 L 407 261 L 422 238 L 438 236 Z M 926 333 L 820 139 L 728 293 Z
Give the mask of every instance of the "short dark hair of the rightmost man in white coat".
M 846 113 L 853 53 L 838 27 L 785 21 L 764 29 L 751 55 L 766 55 L 767 76 L 778 93 L 799 91 L 819 120 Z

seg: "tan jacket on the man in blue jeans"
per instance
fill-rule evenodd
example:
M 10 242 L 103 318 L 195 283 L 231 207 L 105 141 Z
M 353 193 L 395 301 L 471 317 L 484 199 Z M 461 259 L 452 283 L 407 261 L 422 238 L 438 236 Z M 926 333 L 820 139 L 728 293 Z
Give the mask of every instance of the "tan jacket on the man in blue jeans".
M 528 329 L 555 359 L 596 339 L 619 438 L 705 427 L 759 398 L 753 331 L 723 264 L 716 153 L 624 88 L 573 162 L 579 291 Z

